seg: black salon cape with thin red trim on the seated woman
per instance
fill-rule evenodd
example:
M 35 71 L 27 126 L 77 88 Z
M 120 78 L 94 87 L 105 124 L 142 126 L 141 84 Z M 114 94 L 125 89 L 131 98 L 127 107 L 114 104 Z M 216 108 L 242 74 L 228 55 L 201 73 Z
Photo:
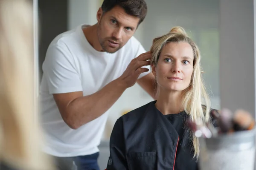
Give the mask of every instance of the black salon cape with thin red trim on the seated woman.
M 117 119 L 107 170 L 198 170 L 185 112 L 163 115 L 150 102 Z

